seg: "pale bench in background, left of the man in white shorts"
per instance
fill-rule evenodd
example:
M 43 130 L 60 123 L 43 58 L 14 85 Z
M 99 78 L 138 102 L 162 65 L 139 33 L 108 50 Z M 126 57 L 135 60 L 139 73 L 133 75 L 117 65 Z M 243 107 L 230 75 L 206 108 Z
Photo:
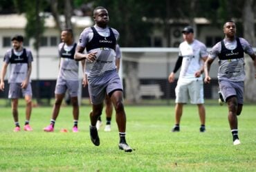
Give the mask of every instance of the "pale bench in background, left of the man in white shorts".
M 140 85 L 140 97 L 141 96 L 154 96 L 155 98 L 160 98 L 163 96 L 163 92 L 158 84 Z

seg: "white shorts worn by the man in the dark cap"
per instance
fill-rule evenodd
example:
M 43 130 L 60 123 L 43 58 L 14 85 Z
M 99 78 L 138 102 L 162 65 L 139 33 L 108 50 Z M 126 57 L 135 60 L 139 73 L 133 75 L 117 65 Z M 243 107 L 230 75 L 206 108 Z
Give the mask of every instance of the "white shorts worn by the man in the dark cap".
M 175 88 L 175 103 L 203 104 L 203 80 L 191 80 L 189 82 L 179 82 Z

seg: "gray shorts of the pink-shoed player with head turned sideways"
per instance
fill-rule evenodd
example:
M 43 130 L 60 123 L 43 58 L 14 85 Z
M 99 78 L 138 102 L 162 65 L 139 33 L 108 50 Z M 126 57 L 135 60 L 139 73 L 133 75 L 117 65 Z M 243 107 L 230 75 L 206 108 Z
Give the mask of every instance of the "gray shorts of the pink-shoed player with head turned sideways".
M 78 95 L 78 80 L 64 80 L 62 78 L 58 78 L 55 86 L 55 94 L 65 94 L 66 90 L 71 97 L 77 97 Z

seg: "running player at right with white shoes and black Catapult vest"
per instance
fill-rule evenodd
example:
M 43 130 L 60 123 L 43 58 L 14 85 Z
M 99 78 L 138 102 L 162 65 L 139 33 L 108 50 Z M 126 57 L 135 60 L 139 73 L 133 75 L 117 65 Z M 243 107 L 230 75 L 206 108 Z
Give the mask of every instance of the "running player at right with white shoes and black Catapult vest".
M 223 99 L 228 105 L 228 122 L 234 145 L 240 144 L 238 138 L 237 116 L 241 114 L 244 103 L 244 52 L 253 58 L 256 68 L 253 48 L 248 41 L 243 38 L 238 38 L 236 36 L 236 31 L 236 25 L 233 21 L 228 21 L 223 25 L 225 38 L 212 47 L 204 67 L 204 81 L 205 83 L 210 83 L 210 65 L 215 58 L 219 58 L 219 88 L 223 95 Z

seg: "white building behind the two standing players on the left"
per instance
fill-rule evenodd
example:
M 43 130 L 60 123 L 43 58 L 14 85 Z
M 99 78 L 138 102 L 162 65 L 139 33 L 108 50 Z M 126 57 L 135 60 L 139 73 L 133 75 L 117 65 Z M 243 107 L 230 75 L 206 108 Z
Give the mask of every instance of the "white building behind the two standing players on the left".
M 75 41 L 84 28 L 93 25 L 91 17 L 72 17 L 74 26 Z M 26 27 L 26 17 L 24 14 L 0 15 L 0 58 L 11 48 L 11 38 L 15 34 L 25 36 L 24 28 Z M 24 47 L 32 51 L 34 62 L 32 79 L 37 78 L 37 53 L 33 47 L 35 40 L 24 39 Z M 41 38 L 41 47 L 39 48 L 39 79 L 56 79 L 58 72 L 58 50 L 57 45 L 60 43 L 60 32 L 55 26 L 55 21 L 51 15 L 45 19 L 45 31 Z M 3 60 L 0 61 L 0 67 Z M 82 72 L 82 70 L 80 70 Z

